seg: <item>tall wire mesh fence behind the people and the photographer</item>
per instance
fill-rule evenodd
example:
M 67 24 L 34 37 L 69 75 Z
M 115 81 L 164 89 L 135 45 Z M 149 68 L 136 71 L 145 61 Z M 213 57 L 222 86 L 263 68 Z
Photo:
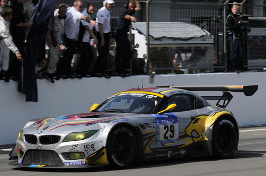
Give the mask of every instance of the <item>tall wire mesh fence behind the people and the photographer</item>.
M 56 1 L 56 6 L 61 3 L 72 6 L 73 2 Z M 115 7 L 111 10 L 109 71 L 115 69 L 114 31 L 126 2 L 116 0 Z M 136 48 L 139 57 L 149 54 L 145 70 L 162 74 L 227 71 L 229 52 L 225 19 L 232 2 L 239 3 L 239 18 L 244 27 L 251 29 L 250 32 L 245 30 L 242 33 L 243 55 L 239 69 L 260 71 L 266 68 L 265 0 L 151 0 L 140 1 L 143 9 L 135 15 L 138 22 L 132 23 L 129 34 L 131 44 L 138 43 L 140 46 Z M 102 1 L 83 3 L 84 7 L 88 3 L 95 5 L 95 19 L 97 11 L 102 7 Z M 94 51 L 96 60 L 96 46 Z

